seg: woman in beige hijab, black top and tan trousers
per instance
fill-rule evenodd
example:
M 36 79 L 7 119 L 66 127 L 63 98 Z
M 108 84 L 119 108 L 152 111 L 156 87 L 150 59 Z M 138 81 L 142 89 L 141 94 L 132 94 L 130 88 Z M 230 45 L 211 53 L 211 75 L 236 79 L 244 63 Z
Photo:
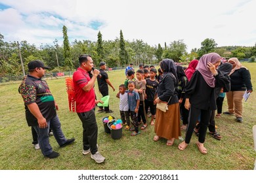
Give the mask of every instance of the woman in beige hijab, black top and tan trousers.
M 245 91 L 247 93 L 253 92 L 251 85 L 251 75 L 249 70 L 242 66 L 237 58 L 228 59 L 228 63 L 232 64 L 232 71 L 230 72 L 231 90 L 226 93 L 228 101 L 228 111 L 223 114 L 230 114 L 236 116 L 236 121 L 242 123 L 242 100 Z

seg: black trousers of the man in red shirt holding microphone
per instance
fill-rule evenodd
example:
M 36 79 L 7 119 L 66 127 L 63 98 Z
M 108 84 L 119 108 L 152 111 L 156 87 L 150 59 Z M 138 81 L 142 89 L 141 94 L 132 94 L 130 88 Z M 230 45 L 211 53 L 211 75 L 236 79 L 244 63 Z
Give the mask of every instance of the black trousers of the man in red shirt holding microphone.
M 96 124 L 95 110 L 77 112 L 77 115 L 83 124 L 83 150 L 89 150 L 91 148 L 91 154 L 95 154 L 98 151 L 98 126 Z

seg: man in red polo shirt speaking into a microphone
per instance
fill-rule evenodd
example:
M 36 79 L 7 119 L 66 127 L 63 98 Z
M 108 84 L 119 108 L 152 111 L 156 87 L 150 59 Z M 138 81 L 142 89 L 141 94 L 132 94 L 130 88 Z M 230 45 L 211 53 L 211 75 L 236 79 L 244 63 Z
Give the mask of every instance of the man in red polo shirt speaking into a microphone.
M 93 88 L 100 71 L 95 69 L 93 77 L 90 78 L 89 73 L 94 65 L 89 55 L 79 56 L 79 63 L 80 67 L 75 71 L 73 81 L 76 112 L 83 124 L 83 154 L 91 152 L 91 158 L 97 163 L 102 163 L 105 158 L 98 152 L 98 126 L 95 118 L 95 104 L 101 101 L 96 101 Z

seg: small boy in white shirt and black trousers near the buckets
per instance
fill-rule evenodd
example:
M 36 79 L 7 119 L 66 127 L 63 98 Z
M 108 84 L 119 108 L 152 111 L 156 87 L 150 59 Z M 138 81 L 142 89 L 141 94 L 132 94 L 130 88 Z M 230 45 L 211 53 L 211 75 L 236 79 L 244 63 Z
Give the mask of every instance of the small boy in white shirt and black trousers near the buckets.
M 129 105 L 128 105 L 128 93 L 125 93 L 124 84 L 121 84 L 119 86 L 119 93 L 117 93 L 116 97 L 120 99 L 119 110 L 120 110 L 120 116 L 121 116 L 123 125 L 126 125 L 125 129 L 129 129 L 130 116 L 129 116 Z

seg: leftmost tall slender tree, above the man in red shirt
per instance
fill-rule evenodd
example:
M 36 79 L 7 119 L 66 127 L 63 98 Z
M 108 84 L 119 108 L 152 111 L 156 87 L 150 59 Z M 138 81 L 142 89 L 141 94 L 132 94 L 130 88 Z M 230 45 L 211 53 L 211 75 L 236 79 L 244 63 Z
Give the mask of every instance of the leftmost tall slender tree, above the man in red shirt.
M 70 42 L 68 41 L 68 29 L 65 25 L 63 25 L 62 32 L 64 39 L 64 67 L 66 67 L 66 69 L 73 69 L 72 56 L 70 53 Z

